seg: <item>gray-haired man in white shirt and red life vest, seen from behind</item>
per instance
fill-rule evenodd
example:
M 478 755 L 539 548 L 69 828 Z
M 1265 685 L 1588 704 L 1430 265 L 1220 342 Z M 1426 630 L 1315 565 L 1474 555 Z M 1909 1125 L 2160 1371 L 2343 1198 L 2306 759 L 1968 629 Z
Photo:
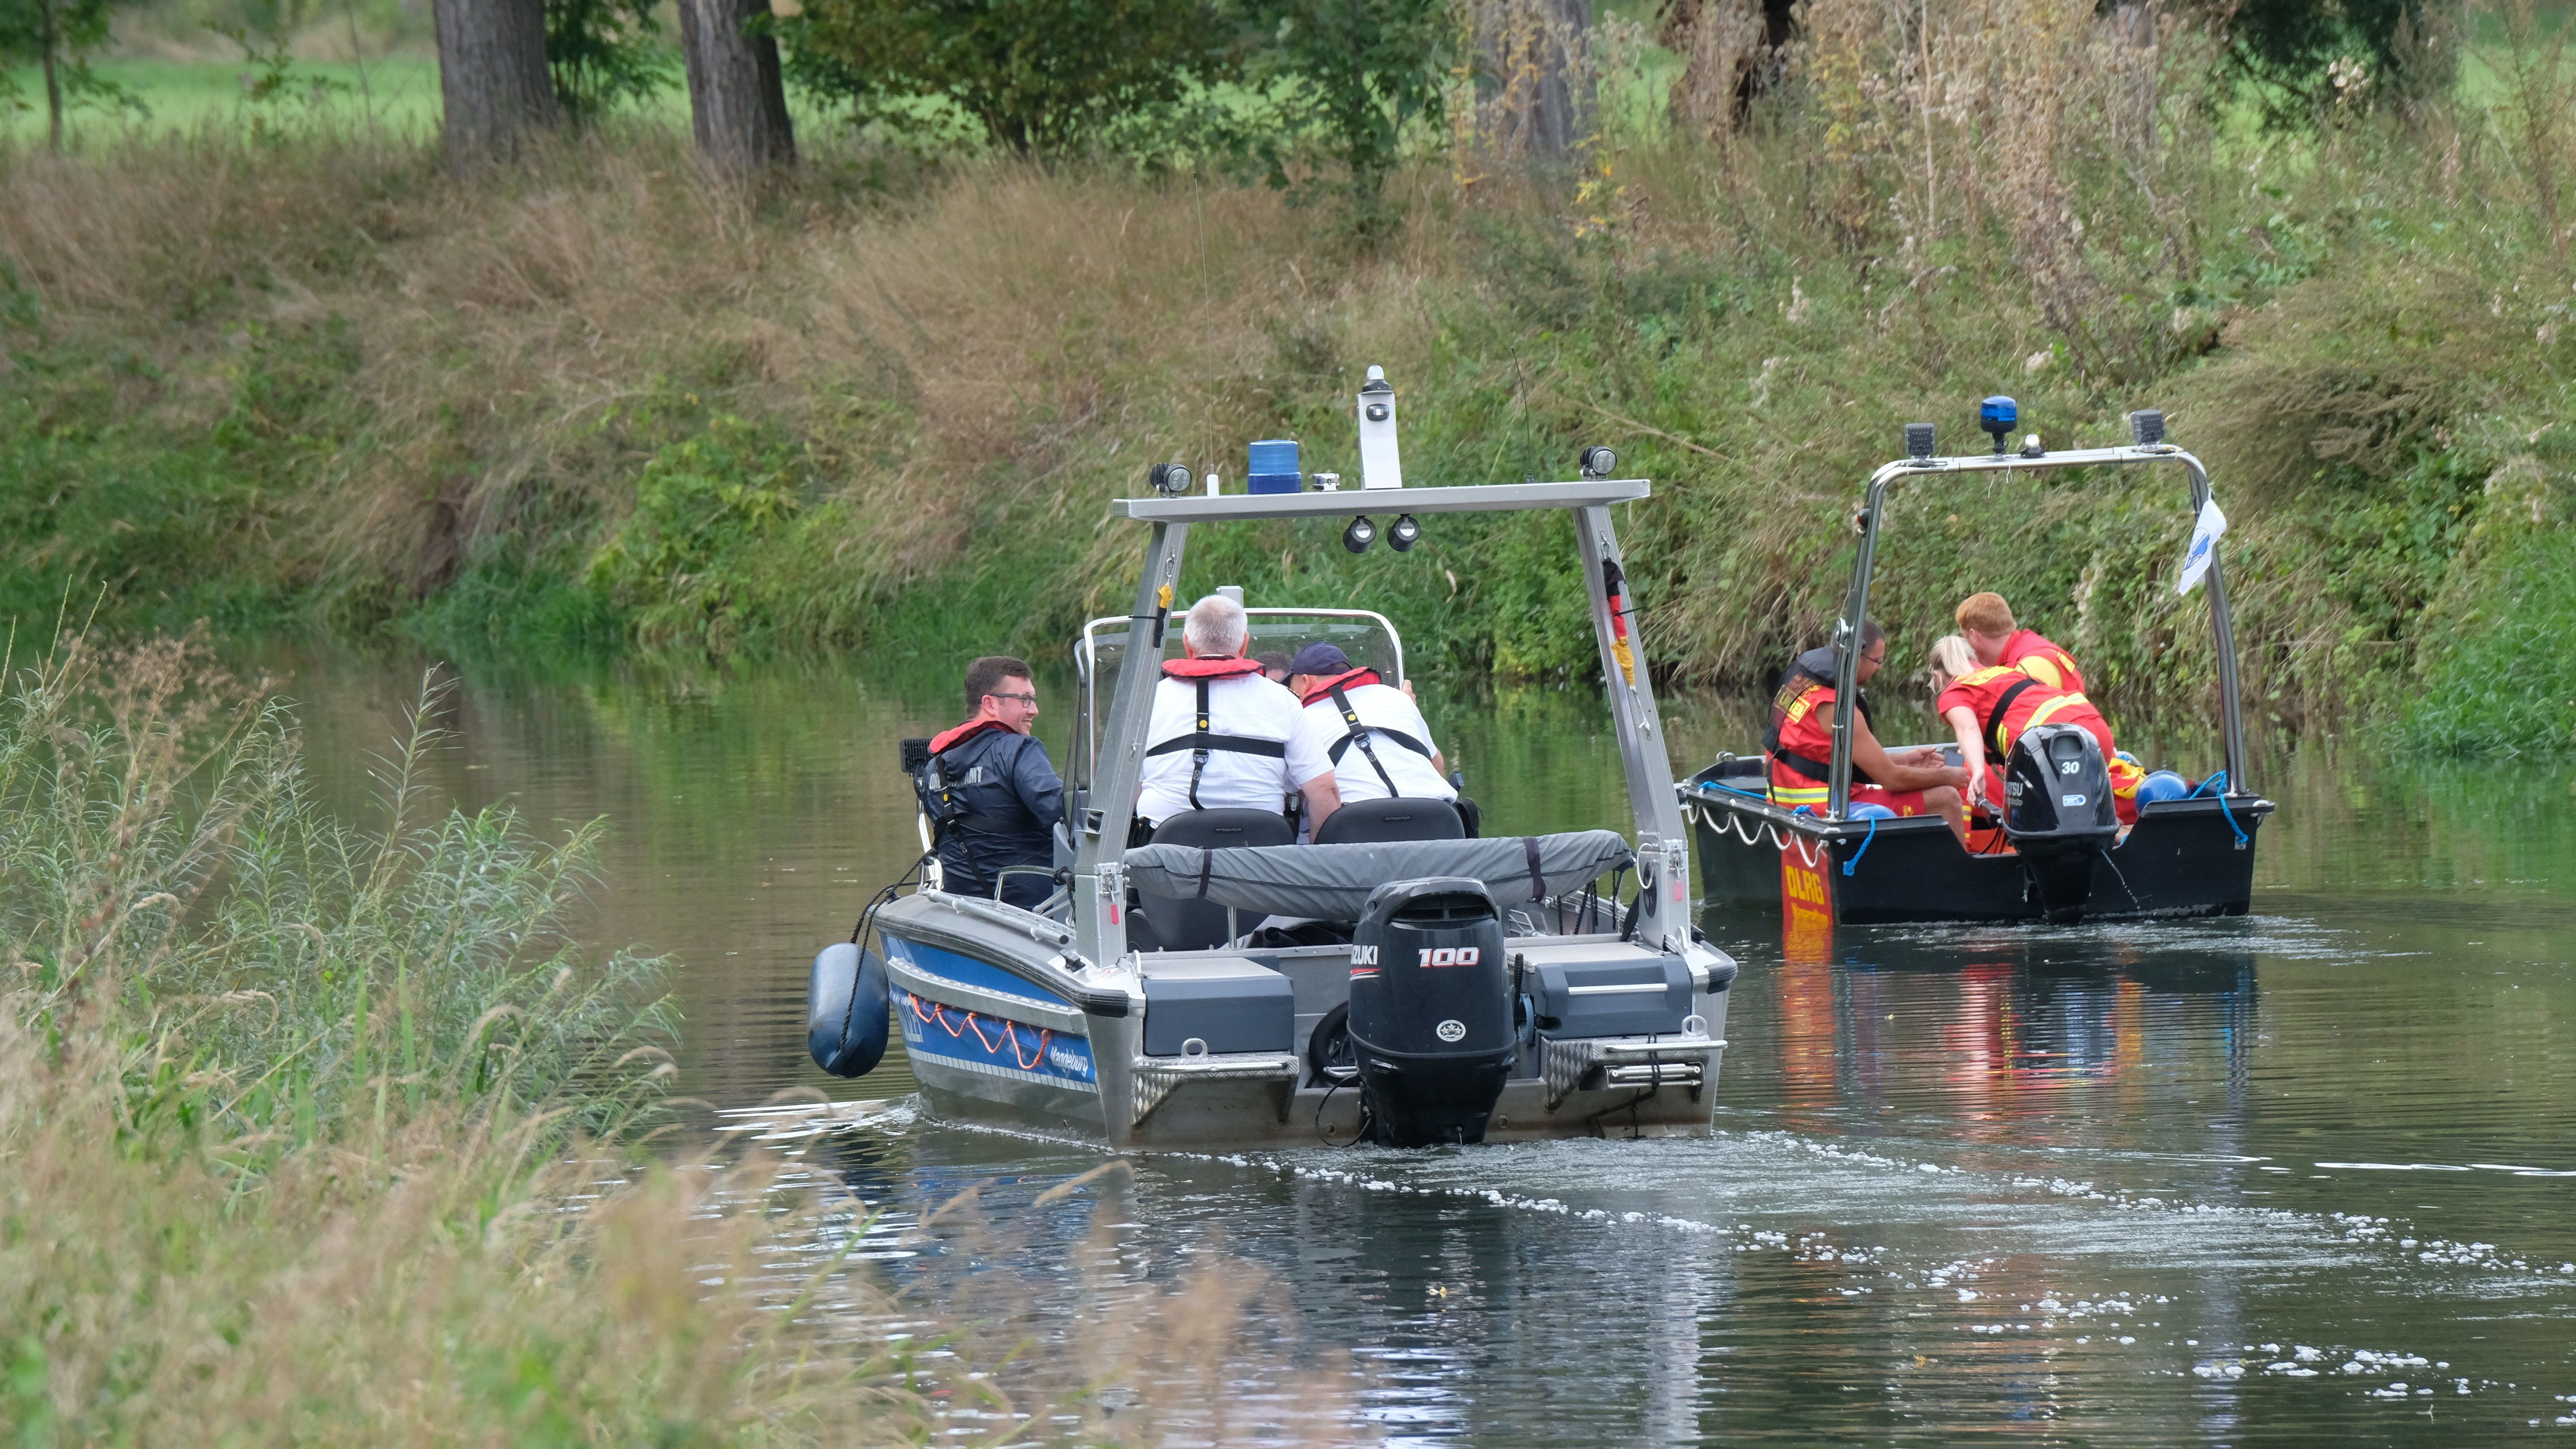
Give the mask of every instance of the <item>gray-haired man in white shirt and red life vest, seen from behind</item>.
M 1170 820 L 1182 810 L 1285 810 L 1296 792 L 1288 737 L 1298 727 L 1296 696 L 1244 657 L 1252 621 L 1244 606 L 1211 593 L 1180 627 L 1188 657 L 1164 660 L 1136 815 Z

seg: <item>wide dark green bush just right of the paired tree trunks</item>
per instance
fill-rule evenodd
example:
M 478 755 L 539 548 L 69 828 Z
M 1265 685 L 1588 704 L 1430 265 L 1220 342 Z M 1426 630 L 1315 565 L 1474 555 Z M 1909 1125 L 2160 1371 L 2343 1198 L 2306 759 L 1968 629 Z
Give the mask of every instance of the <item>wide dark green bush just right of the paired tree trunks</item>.
M 1211 0 L 806 0 L 783 31 L 796 83 L 853 121 L 938 134 L 945 101 L 1020 155 L 1170 111 L 1244 52 Z

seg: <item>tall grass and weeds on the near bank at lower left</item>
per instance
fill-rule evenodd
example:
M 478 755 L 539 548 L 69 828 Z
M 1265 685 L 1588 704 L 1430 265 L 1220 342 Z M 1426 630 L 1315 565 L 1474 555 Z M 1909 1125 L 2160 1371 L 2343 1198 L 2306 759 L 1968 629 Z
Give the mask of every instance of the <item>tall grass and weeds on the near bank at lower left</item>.
M 1218 1359 L 1267 1361 L 1262 1276 L 1221 1253 L 1020 1361 L 1020 1305 L 938 1266 L 992 1245 L 971 1191 L 933 1240 L 791 1155 L 672 1152 L 667 964 L 572 936 L 600 828 L 448 810 L 443 691 L 348 825 L 289 712 L 193 645 L 15 665 L 10 1441 L 1123 1444 L 1200 1426 Z M 1340 1395 L 1252 1418 L 1296 1441 Z

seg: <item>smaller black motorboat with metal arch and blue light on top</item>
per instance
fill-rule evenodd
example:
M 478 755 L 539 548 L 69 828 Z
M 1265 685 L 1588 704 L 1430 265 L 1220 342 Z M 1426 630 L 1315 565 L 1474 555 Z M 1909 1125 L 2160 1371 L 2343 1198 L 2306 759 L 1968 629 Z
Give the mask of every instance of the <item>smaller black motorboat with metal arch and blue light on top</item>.
M 1996 397 L 2009 415 L 2012 400 Z M 2133 920 L 2151 915 L 2244 915 L 2254 895 L 2254 843 L 2272 802 L 2246 789 L 2244 717 L 2236 694 L 2236 634 L 2228 619 L 2218 541 L 2205 541 L 2210 632 L 2218 652 L 2218 732 L 2226 768 L 2190 784 L 2177 799 L 2138 804 L 2136 825 L 2120 828 L 2107 792 L 2066 794 L 2087 804 L 2058 812 L 2050 789 L 2007 781 L 2014 804 L 1963 843 L 1935 815 L 1875 817 L 1852 810 L 1852 714 L 1857 704 L 1860 621 L 1870 606 L 1888 492 L 1960 472 L 2058 469 L 2177 469 L 2192 516 L 2210 505 L 2210 474 L 2197 456 L 2164 441 L 2164 415 L 2130 415 L 2125 449 L 2043 451 L 2038 438 L 1994 454 L 1935 456 L 1932 425 L 1906 428 L 1906 456 L 1870 474 L 1855 529 L 1852 583 L 1834 621 L 1834 755 L 1824 810 L 1783 807 L 1770 794 L 1770 758 L 1759 745 L 1723 753 L 1682 789 L 1682 807 L 1698 833 L 1700 884 L 1716 908 L 1777 910 L 1793 949 L 1816 946 L 1837 923 L 1937 920 Z M 2081 745 L 2069 732 L 2069 745 Z M 1888 743 L 1891 753 L 1922 745 Z M 1950 763 L 1958 748 L 1942 745 Z M 2020 768 L 2020 758 L 2009 766 Z M 2038 768 L 2079 768 L 2081 761 Z M 1996 761 L 2004 771 L 2007 761 Z M 1971 848 L 1973 846 L 1973 848 Z

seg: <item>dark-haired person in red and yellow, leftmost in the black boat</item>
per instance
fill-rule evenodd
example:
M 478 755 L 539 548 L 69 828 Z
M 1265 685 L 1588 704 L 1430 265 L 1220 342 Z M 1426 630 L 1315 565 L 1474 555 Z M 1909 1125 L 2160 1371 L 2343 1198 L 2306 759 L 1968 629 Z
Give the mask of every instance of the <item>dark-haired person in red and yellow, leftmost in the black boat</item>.
M 1860 621 L 1860 657 L 1852 683 L 1870 683 L 1870 676 L 1888 663 L 1888 632 L 1875 619 Z M 1788 810 L 1824 815 L 1829 802 L 1829 776 L 1834 758 L 1834 650 L 1808 650 L 1790 663 L 1772 696 L 1770 727 L 1762 732 L 1770 750 L 1770 797 Z M 1870 696 L 1857 699 L 1852 712 L 1852 817 L 1883 810 L 1888 815 L 1940 815 L 1960 841 L 1968 838 L 1968 812 L 1960 804 L 1960 786 L 1968 771 L 1942 761 L 1932 745 L 1891 755 L 1870 732 Z M 1865 810 L 1875 807 L 1875 810 Z

